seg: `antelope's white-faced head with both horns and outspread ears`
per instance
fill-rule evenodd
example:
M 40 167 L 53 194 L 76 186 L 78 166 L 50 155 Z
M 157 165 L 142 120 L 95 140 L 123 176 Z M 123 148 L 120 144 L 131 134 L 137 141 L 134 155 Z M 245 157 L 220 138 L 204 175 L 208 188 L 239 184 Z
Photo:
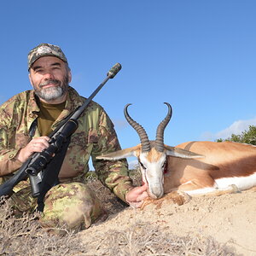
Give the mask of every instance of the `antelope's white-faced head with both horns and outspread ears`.
M 148 195 L 154 199 L 164 195 L 164 172 L 167 165 L 167 156 L 174 156 L 186 159 L 202 157 L 182 148 L 174 148 L 164 144 L 164 131 L 172 117 L 172 107 L 165 102 L 168 107 L 166 118 L 157 127 L 155 141 L 149 141 L 148 135 L 142 125 L 131 119 L 127 108 L 124 109 L 125 119 L 131 127 L 137 131 L 141 143 L 132 148 L 125 148 L 109 154 L 97 156 L 102 160 L 119 160 L 129 156 L 136 156 L 142 172 L 143 182 L 148 183 Z

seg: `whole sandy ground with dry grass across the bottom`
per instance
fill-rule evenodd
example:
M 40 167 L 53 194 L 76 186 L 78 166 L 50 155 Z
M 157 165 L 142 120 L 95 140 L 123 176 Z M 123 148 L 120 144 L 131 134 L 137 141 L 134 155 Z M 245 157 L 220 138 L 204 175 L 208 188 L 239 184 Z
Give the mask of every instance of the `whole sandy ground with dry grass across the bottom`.
M 127 207 L 99 181 L 89 183 L 109 216 L 77 234 L 50 235 L 38 216 L 12 215 L 0 200 L 1 255 L 255 256 L 255 195 L 251 189 L 179 205 L 166 195 L 143 210 Z

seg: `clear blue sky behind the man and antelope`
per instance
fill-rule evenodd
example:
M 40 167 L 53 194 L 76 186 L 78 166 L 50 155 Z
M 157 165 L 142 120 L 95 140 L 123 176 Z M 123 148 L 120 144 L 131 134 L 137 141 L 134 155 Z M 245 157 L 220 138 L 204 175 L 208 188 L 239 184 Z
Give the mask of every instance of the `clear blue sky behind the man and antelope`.
M 122 64 L 95 98 L 122 148 L 139 143 L 126 103 L 150 139 L 166 116 L 163 102 L 173 108 L 166 144 L 229 137 L 256 125 L 255 13 L 253 0 L 1 1 L 0 103 L 31 89 L 28 51 L 58 44 L 82 96 Z

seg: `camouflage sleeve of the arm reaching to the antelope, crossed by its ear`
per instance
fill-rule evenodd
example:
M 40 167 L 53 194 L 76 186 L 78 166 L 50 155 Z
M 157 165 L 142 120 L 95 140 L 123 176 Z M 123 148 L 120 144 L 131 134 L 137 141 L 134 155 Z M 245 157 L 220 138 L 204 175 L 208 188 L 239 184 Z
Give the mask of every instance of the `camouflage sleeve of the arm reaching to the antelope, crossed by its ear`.
M 102 111 L 99 117 L 98 140 L 92 149 L 92 162 L 96 174 L 109 189 L 113 191 L 122 201 L 132 187 L 131 178 L 128 175 L 128 164 L 126 160 L 96 160 L 96 156 L 107 154 L 120 149 L 118 137 L 113 129 L 113 123 L 108 114 Z

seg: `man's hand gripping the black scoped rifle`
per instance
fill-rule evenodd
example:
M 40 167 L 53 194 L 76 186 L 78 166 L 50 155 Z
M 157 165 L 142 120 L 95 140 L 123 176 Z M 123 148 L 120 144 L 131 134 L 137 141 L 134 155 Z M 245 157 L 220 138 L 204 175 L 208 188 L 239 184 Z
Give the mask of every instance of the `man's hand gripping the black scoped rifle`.
M 49 137 L 42 136 L 33 138 L 30 143 L 26 145 L 25 148 L 21 148 L 19 154 L 17 155 L 18 160 L 20 160 L 21 163 L 26 162 L 28 158 L 34 153 L 34 152 L 42 152 L 44 148 L 49 147 Z

